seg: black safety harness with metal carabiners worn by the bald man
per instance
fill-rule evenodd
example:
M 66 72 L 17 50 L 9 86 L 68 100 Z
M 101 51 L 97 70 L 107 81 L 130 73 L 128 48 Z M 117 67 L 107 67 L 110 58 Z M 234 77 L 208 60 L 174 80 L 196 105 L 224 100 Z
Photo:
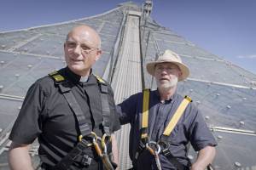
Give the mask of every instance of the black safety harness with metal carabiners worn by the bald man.
M 101 100 L 102 100 L 102 117 L 103 117 L 103 130 L 104 134 L 102 139 L 96 135 L 96 133 L 92 132 L 88 123 L 86 123 L 86 119 L 83 111 L 81 110 L 79 103 L 75 99 L 73 93 L 71 92 L 72 82 L 67 81 L 65 77 L 62 77 L 58 71 L 53 71 L 49 73 L 49 77 L 52 77 L 55 80 L 55 84 L 60 88 L 61 94 L 63 94 L 64 98 L 67 100 L 69 107 L 74 112 L 77 121 L 79 122 L 79 143 L 64 156 L 61 161 L 59 161 L 54 169 L 56 170 L 67 170 L 73 164 L 73 162 L 77 162 L 84 167 L 89 167 L 92 159 L 90 156 L 84 153 L 88 147 L 93 147 L 96 150 L 96 154 L 101 158 L 103 166 L 107 170 L 113 170 L 112 162 L 108 157 L 108 148 L 107 145 L 111 142 L 111 132 L 110 129 L 110 109 L 108 104 L 108 86 L 106 82 L 102 80 L 101 77 L 97 77 L 97 82 L 100 86 L 101 91 Z M 93 93 L 93 90 L 89 90 Z M 92 94 L 94 96 L 95 94 Z M 98 144 L 98 141 L 101 144 Z

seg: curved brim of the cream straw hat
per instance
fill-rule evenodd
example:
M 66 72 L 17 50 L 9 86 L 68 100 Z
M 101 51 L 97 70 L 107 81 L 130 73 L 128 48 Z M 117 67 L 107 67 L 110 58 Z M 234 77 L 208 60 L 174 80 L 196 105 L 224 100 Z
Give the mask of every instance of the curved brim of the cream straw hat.
M 177 65 L 180 69 L 180 71 L 182 72 L 182 75 L 180 77 L 178 77 L 178 82 L 179 81 L 183 81 L 185 80 L 187 77 L 189 77 L 189 67 L 187 65 L 184 65 L 180 62 L 175 62 L 175 61 L 153 61 L 153 62 L 150 62 L 146 65 L 146 68 L 147 68 L 147 71 L 148 73 L 154 77 L 154 67 L 155 65 L 157 64 L 160 64 L 160 63 L 172 63 L 174 65 Z

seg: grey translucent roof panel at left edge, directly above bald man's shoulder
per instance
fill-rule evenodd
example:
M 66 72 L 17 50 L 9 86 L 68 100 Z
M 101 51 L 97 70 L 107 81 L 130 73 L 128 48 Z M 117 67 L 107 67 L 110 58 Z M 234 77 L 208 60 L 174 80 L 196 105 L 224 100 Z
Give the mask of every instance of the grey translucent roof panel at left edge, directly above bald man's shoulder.
M 0 53 L 1 59 L 8 60 L 0 67 L 0 85 L 3 94 L 24 96 L 27 88 L 39 77 L 65 66 L 63 60 L 39 58 L 26 54 Z

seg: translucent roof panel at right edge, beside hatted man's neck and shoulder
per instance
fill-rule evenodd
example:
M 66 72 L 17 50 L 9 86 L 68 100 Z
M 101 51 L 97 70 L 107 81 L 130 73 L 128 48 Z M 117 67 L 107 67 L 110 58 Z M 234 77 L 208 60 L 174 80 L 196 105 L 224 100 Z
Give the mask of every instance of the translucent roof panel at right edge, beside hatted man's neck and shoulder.
M 256 129 L 256 91 L 253 89 L 186 81 L 179 82 L 178 93 L 191 96 L 213 126 Z

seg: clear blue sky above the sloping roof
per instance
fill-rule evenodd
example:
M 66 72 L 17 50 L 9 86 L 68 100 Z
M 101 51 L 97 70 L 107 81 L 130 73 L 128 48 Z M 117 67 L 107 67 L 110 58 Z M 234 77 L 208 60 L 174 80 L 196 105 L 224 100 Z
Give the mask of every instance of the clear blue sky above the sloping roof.
M 125 0 L 3 0 L 0 31 L 101 14 Z M 135 0 L 142 4 L 143 0 Z M 161 26 L 256 74 L 255 0 L 154 0 Z

